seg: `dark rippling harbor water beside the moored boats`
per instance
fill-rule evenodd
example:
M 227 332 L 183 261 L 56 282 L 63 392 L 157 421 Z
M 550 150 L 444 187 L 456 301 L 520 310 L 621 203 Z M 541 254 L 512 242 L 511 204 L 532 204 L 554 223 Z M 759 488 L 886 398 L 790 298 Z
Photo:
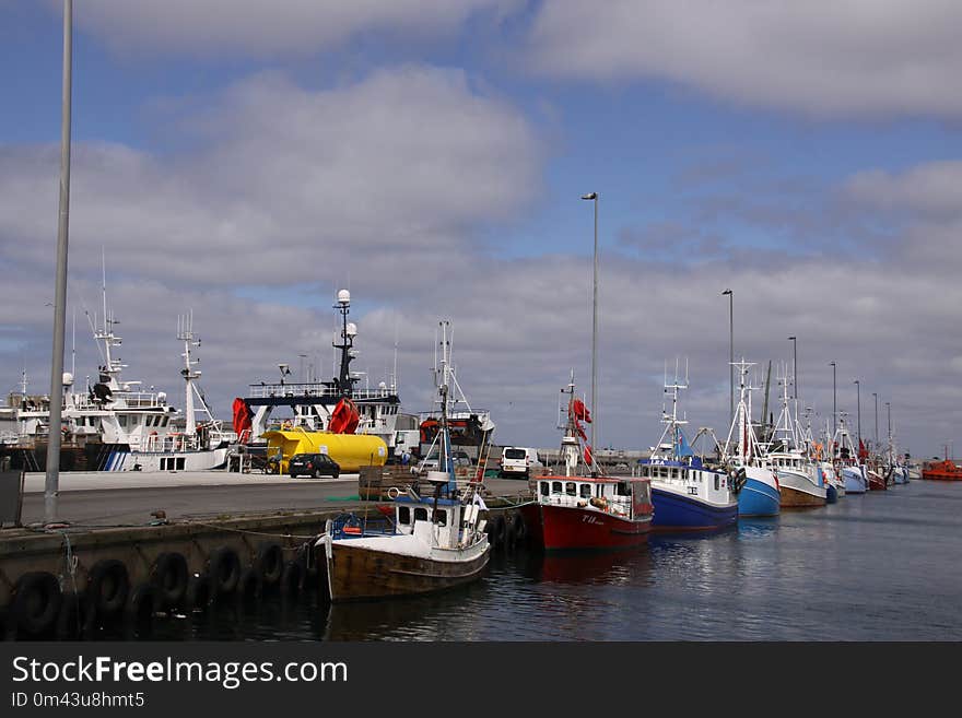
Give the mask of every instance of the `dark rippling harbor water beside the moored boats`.
M 959 640 L 962 486 L 916 481 L 714 535 L 496 553 L 453 592 L 161 619 L 162 640 Z

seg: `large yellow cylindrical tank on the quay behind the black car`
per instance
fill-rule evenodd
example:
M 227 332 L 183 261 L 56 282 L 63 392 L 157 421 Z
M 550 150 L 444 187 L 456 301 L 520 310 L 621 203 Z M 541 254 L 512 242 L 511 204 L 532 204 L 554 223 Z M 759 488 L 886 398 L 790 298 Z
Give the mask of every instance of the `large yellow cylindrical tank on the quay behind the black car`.
M 327 454 L 341 471 L 353 473 L 361 467 L 383 467 L 387 461 L 387 444 L 366 434 L 331 434 L 303 429 L 265 432 L 268 456 L 281 454 L 281 473 L 288 473 L 288 461 L 295 454 Z

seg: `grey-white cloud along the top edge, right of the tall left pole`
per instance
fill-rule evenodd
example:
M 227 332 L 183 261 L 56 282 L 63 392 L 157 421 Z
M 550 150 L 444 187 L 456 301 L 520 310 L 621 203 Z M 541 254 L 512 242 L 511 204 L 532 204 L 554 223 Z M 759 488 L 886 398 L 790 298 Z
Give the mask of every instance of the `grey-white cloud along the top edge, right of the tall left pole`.
M 333 49 L 371 33 L 451 35 L 474 13 L 516 0 L 84 0 L 75 23 L 121 50 L 291 55 Z

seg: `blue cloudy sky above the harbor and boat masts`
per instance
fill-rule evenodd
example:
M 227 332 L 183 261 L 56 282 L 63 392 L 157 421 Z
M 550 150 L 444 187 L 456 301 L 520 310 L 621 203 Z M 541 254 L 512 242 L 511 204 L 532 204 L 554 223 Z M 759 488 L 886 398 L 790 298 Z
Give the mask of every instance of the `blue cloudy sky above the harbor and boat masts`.
M 756 385 L 797 337 L 817 424 L 860 391 L 864 437 L 877 395 L 881 438 L 890 409 L 962 451 L 960 31 L 954 0 L 77 0 L 64 366 L 95 374 L 105 267 L 124 377 L 183 405 L 192 313 L 230 419 L 279 363 L 332 375 L 350 289 L 406 411 L 448 319 L 495 440 L 555 446 L 598 192 L 600 446 L 658 439 L 676 362 L 724 437 L 731 321 Z M 61 2 L 0 0 L 4 397 L 49 389 L 61 49 Z

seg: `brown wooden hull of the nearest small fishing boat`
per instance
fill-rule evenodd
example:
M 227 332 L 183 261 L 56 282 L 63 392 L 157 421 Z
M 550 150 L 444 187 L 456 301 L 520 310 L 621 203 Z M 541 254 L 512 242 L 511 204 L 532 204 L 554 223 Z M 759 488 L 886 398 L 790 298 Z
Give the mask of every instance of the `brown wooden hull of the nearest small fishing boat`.
M 360 601 L 433 593 L 480 578 L 491 550 L 468 561 L 437 561 L 335 542 L 327 561 L 331 601 Z

